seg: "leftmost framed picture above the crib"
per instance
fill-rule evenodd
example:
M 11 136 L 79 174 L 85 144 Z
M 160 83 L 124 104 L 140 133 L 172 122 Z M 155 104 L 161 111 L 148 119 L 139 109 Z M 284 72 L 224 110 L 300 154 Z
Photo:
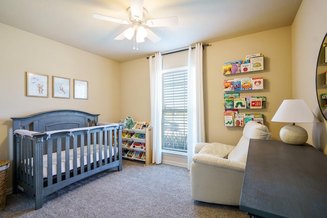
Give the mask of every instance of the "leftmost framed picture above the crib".
M 26 96 L 49 97 L 49 76 L 26 71 Z

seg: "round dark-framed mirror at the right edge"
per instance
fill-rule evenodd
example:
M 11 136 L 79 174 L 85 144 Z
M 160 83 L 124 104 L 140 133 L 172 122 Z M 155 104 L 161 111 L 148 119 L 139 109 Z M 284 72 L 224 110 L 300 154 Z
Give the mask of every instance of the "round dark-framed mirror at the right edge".
M 324 54 L 324 44 L 327 43 L 327 33 L 325 37 L 322 40 L 320 51 L 318 54 L 317 59 L 317 67 L 316 67 L 316 95 L 317 95 L 317 101 L 319 105 L 319 109 L 321 111 L 321 114 L 323 118 L 327 121 L 327 107 L 322 106 L 322 100 L 321 100 L 321 94 L 327 93 L 327 85 L 324 85 L 327 83 L 327 62 L 323 63 L 323 58 L 326 54 Z M 319 91 L 321 90 L 321 91 Z

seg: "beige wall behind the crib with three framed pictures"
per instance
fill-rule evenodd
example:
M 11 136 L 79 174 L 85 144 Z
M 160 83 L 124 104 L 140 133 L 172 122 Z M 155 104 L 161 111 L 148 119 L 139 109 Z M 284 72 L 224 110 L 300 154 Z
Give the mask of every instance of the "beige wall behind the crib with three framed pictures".
M 119 63 L 2 23 L 0 32 L 0 159 L 13 160 L 10 117 L 77 109 L 101 114 L 100 122 L 119 119 Z M 49 98 L 25 96 L 25 71 L 49 75 Z M 70 99 L 52 98 L 52 76 L 71 79 Z M 73 79 L 88 81 L 88 100 L 73 98 Z

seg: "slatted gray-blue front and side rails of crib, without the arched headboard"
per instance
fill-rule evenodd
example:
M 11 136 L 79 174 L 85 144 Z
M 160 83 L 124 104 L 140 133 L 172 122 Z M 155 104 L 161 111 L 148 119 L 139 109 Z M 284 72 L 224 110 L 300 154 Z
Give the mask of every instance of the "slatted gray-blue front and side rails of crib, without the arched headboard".
M 52 132 L 14 133 L 14 188 L 35 198 L 109 168 L 122 170 L 122 126 L 111 124 Z M 54 153 L 55 151 L 55 153 Z

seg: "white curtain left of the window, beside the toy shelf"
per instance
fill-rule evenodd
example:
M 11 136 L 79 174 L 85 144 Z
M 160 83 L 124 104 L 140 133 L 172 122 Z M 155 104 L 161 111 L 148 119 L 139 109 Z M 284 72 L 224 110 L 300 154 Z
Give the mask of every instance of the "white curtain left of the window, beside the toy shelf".
M 152 163 L 161 163 L 161 70 L 162 56 L 156 53 L 150 57 L 150 101 L 151 125 L 153 127 Z

